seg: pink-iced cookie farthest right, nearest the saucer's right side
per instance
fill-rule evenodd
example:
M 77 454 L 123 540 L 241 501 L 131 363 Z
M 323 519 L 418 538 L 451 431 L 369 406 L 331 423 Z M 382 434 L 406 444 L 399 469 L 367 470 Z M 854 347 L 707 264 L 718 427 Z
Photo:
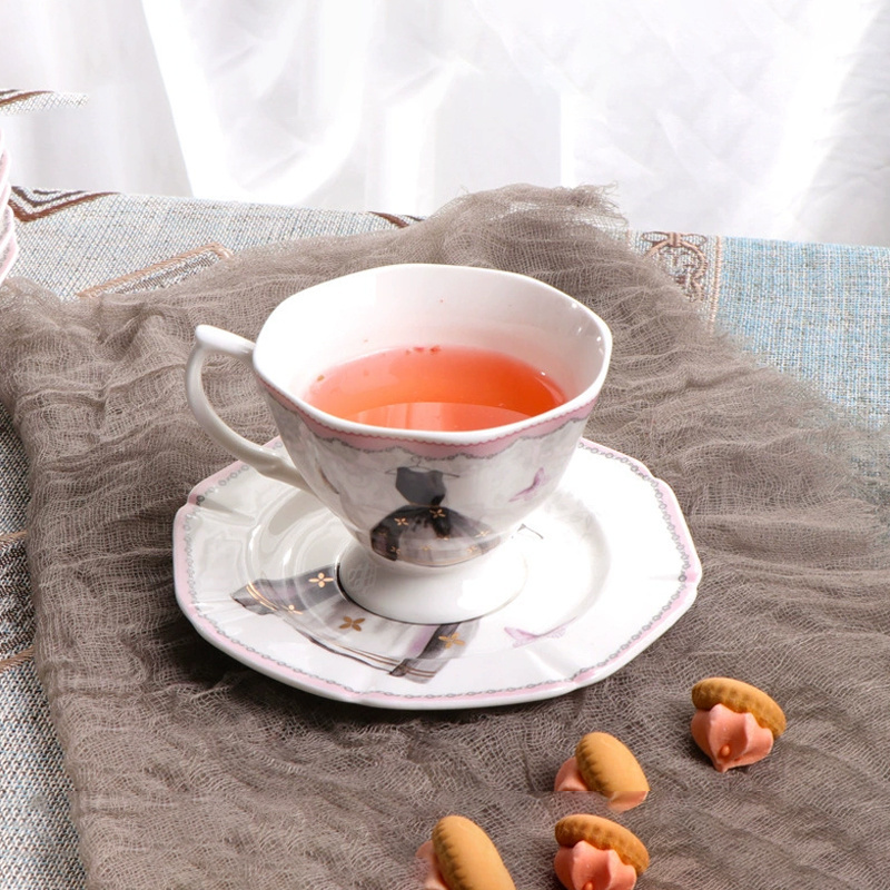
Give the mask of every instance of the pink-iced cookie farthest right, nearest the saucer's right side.
M 692 688 L 692 738 L 719 772 L 763 760 L 785 731 L 782 709 L 762 690 L 728 676 Z

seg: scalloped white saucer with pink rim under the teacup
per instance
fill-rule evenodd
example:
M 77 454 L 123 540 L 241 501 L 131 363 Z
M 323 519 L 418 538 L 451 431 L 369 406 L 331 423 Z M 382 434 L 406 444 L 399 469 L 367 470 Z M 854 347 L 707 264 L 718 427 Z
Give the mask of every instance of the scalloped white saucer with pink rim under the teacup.
M 583 439 L 512 536 L 522 590 L 483 617 L 419 625 L 363 609 L 338 583 L 349 541 L 310 495 L 233 464 L 176 516 L 178 603 L 215 646 L 307 692 L 378 708 L 482 708 L 609 676 L 689 610 L 701 576 L 670 487 Z

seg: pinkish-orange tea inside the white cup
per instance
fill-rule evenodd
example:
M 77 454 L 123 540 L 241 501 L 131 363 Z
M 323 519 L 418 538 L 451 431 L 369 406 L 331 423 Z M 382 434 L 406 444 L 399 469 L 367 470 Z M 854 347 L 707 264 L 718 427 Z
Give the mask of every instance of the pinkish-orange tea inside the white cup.
M 346 421 L 397 429 L 488 429 L 544 414 L 566 398 L 544 372 L 469 346 L 384 349 L 327 368 L 306 400 Z

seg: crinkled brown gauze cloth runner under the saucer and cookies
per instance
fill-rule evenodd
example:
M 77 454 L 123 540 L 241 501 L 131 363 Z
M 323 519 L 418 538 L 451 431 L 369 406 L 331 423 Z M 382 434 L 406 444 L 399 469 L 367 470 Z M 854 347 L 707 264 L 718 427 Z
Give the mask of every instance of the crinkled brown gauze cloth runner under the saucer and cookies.
M 513 187 L 155 293 L 62 305 L 22 280 L 0 291 L 0 386 L 30 461 L 37 660 L 91 888 L 417 888 L 416 847 L 461 812 L 521 890 L 553 890 L 555 820 L 605 812 L 551 790 L 594 729 L 651 780 L 619 817 L 652 856 L 641 888 L 887 887 L 886 453 L 708 334 L 661 273 L 597 230 L 609 212 L 595 189 Z M 194 327 L 254 337 L 295 290 L 404 261 L 533 275 L 614 332 L 589 435 L 670 483 L 704 580 L 674 629 L 597 685 L 479 711 L 339 704 L 229 660 L 176 605 L 174 514 L 229 463 L 186 407 Z M 246 375 L 220 360 L 206 376 L 231 423 L 274 434 Z M 689 690 L 709 674 L 785 708 L 762 763 L 721 775 L 694 748 Z

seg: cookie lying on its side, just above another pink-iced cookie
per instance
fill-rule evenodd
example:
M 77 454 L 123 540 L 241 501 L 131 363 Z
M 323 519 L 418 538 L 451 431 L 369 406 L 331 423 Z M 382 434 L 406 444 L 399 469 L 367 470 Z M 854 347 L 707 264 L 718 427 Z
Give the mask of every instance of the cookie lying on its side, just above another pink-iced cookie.
M 649 782 L 630 749 L 607 732 L 589 732 L 556 773 L 555 791 L 593 791 L 623 813 L 646 799 Z

